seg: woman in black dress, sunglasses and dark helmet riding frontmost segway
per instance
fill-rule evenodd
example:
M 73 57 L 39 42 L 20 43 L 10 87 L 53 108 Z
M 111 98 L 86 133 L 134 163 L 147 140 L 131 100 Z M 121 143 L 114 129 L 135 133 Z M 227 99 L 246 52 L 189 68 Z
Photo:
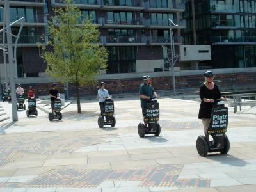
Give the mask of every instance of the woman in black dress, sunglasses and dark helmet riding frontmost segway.
M 216 84 L 213 83 L 213 78 L 215 75 L 211 70 L 204 72 L 205 82 L 200 86 L 200 109 L 198 118 L 202 119 L 204 125 L 204 134 L 207 141 L 209 141 L 209 134 L 207 134 L 207 129 L 210 123 L 212 107 L 214 100 L 222 99 L 225 100 L 224 97 L 221 96 L 220 90 Z

